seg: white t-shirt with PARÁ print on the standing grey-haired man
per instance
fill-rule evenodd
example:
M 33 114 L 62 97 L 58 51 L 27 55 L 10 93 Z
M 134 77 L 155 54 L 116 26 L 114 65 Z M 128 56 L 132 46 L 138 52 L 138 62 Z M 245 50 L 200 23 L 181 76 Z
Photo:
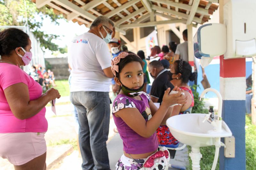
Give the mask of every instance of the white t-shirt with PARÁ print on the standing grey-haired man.
M 70 92 L 109 92 L 110 78 L 103 69 L 111 67 L 111 53 L 106 42 L 86 32 L 76 36 L 68 46 L 68 63 L 71 67 Z

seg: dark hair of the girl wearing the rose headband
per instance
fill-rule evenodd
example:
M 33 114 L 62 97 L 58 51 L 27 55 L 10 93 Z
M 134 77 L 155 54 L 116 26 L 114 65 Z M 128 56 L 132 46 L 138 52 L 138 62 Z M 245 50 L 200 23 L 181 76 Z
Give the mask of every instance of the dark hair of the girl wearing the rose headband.
M 140 63 L 141 67 L 142 67 L 142 60 L 141 58 L 136 55 L 135 53 L 132 53 L 131 51 L 128 51 L 127 53 L 129 53 L 128 56 L 126 56 L 123 59 L 120 59 L 120 62 L 117 64 L 118 65 L 118 71 L 119 73 L 122 71 L 122 69 L 124 68 L 124 66 L 132 61 L 137 61 Z M 116 72 L 116 77 L 119 77 L 119 73 Z

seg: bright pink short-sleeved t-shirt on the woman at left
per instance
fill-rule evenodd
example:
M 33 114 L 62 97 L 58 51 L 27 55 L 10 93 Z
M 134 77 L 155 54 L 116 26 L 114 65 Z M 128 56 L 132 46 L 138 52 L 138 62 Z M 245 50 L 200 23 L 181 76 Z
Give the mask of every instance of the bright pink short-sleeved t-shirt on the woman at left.
M 4 95 L 4 89 L 20 82 L 28 86 L 30 100 L 42 95 L 43 89 L 40 84 L 26 72 L 15 65 L 0 63 L 0 133 L 46 132 L 48 123 L 45 118 L 45 107 L 35 116 L 24 120 L 13 115 Z

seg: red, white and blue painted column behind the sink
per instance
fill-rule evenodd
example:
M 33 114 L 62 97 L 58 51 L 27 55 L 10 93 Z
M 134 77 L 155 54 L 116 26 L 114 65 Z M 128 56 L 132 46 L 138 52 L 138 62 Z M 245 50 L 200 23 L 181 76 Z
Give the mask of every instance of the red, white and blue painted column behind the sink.
M 220 170 L 245 170 L 245 89 L 245 58 L 220 56 L 222 118 L 235 137 L 235 158 L 224 157 L 224 147 L 220 148 Z

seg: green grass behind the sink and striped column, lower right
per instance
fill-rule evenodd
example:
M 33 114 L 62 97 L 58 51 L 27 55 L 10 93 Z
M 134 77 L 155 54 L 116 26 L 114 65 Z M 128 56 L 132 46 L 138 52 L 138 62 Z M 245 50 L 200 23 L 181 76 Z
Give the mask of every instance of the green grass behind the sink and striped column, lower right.
M 246 170 L 254 170 L 256 167 L 256 125 L 251 122 L 252 118 L 245 117 L 245 154 L 246 154 Z M 188 153 L 191 152 L 191 147 L 188 146 Z M 200 153 L 203 158 L 200 160 L 202 170 L 211 170 L 214 159 L 215 146 L 201 147 Z M 192 170 L 192 161 L 189 158 L 188 170 Z M 219 161 L 216 169 L 219 169 Z

